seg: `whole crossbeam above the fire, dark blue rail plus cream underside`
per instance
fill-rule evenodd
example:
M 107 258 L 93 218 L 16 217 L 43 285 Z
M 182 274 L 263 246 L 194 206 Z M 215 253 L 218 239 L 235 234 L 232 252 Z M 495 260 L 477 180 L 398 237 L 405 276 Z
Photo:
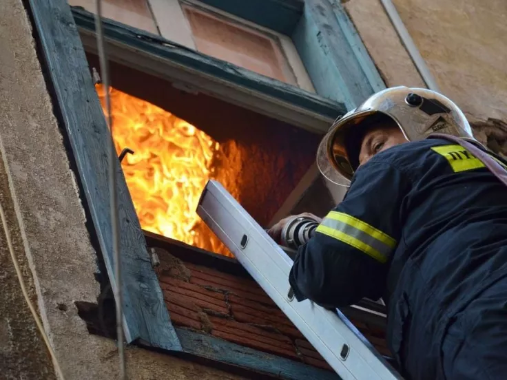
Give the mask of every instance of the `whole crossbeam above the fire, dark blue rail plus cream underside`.
M 79 9 L 73 9 L 72 13 L 81 30 L 83 43 L 92 51 L 93 15 Z M 161 36 L 112 20 L 105 21 L 104 30 L 112 59 L 116 56 L 118 63 L 143 71 L 149 69 L 150 74 L 185 83 L 189 85 L 189 91 L 193 89 L 224 98 L 229 103 L 319 134 L 324 134 L 332 121 L 346 112 L 342 103 L 214 59 Z

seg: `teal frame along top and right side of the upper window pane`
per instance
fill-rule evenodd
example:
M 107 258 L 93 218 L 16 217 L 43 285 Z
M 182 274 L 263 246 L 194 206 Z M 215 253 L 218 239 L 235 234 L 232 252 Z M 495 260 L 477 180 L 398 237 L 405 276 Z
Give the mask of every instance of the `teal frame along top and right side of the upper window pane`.
M 357 107 L 385 88 L 338 0 L 200 0 L 291 37 L 320 96 Z

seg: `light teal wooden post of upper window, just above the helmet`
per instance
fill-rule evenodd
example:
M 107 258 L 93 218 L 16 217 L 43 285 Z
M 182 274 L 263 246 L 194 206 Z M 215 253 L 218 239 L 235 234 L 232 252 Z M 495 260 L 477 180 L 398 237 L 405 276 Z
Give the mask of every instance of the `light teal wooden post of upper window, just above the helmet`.
M 373 61 L 335 0 L 307 0 L 292 34 L 318 94 L 357 107 L 384 88 Z

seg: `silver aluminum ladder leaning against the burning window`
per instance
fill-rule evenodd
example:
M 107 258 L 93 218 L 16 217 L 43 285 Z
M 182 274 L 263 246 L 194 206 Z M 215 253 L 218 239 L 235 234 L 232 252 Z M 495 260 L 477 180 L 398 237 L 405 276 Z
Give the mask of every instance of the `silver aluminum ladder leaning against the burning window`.
M 294 299 L 292 259 L 219 182 L 207 183 L 197 213 L 340 378 L 402 379 L 340 310 Z

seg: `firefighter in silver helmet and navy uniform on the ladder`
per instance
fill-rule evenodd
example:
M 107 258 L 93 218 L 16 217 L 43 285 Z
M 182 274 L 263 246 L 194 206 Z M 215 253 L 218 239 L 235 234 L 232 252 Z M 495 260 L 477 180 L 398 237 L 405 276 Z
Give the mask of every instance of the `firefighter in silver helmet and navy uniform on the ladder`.
M 455 103 L 407 87 L 333 124 L 318 166 L 349 189 L 298 249 L 289 282 L 298 301 L 328 308 L 383 297 L 407 379 L 507 379 L 507 189 L 434 132 L 474 140 Z M 269 230 L 275 240 L 286 222 Z

